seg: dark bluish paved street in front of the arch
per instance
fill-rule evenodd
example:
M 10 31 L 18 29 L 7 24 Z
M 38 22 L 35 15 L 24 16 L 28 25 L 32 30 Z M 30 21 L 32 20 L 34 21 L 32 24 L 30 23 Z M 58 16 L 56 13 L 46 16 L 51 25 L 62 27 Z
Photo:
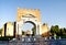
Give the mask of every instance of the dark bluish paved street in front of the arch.
M 34 37 L 24 37 L 20 41 L 12 42 L 2 42 L 0 45 L 66 45 L 66 38 L 64 40 L 44 40 L 44 38 L 34 38 Z

